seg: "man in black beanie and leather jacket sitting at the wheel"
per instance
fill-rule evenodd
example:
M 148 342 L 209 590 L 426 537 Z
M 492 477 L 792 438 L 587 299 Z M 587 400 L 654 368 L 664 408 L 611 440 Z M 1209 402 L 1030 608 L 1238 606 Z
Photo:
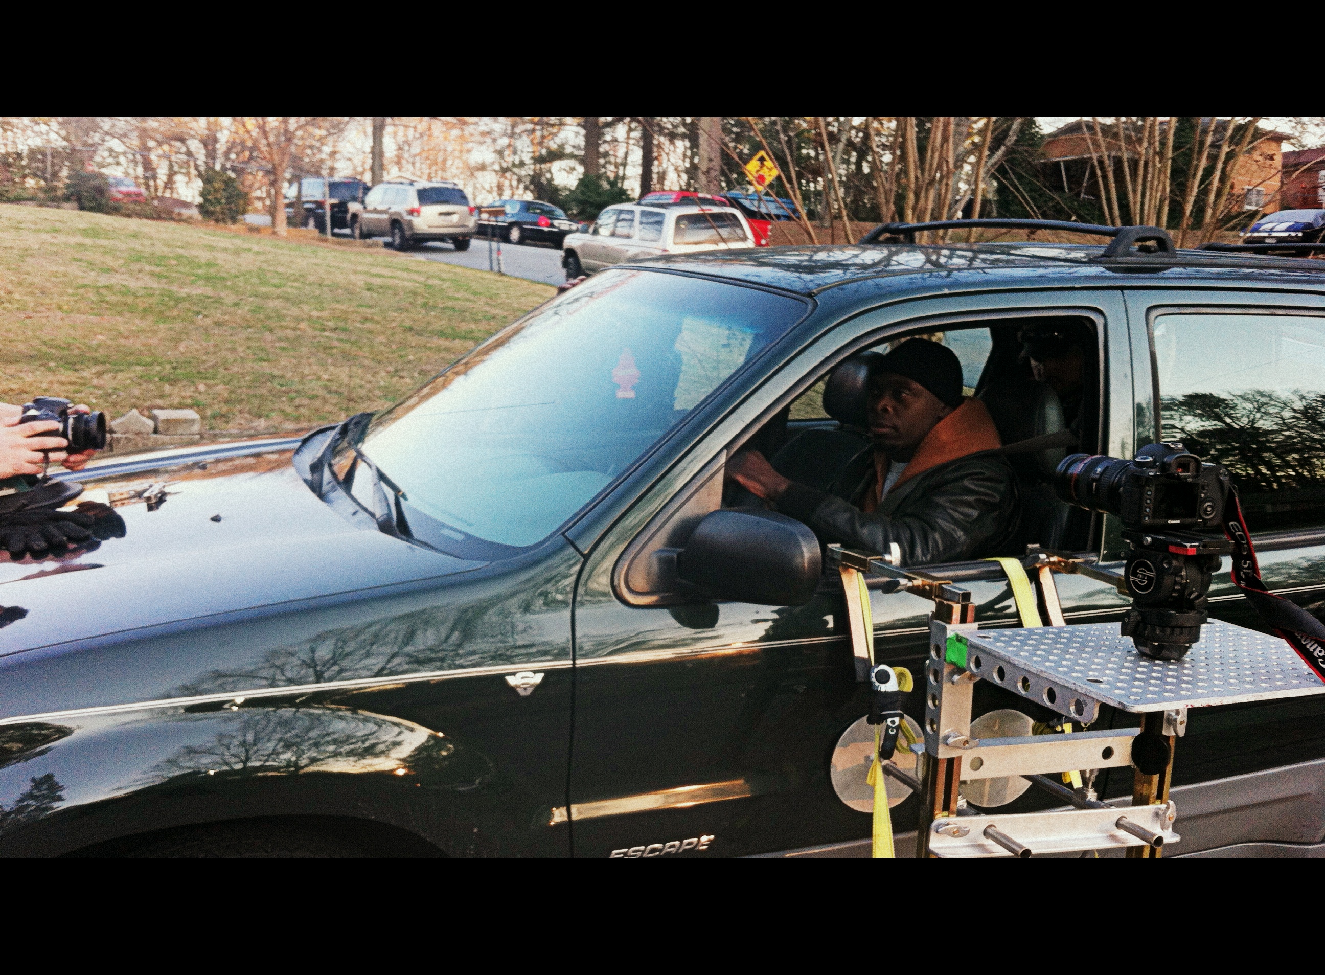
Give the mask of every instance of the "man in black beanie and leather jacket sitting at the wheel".
M 827 491 L 788 481 L 757 450 L 727 461 L 727 477 L 808 525 L 824 543 L 889 551 L 901 564 L 1012 555 L 1016 478 L 984 404 L 962 396 L 947 347 L 909 339 L 872 366 L 872 446 Z

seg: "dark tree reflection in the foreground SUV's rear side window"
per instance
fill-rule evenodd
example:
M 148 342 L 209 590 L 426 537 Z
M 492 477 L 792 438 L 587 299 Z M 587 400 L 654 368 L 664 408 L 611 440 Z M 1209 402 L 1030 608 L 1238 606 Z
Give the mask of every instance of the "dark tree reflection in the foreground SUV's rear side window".
M 1253 530 L 1292 527 L 1325 505 L 1325 393 L 1191 392 L 1162 405 L 1165 438 L 1228 468 Z

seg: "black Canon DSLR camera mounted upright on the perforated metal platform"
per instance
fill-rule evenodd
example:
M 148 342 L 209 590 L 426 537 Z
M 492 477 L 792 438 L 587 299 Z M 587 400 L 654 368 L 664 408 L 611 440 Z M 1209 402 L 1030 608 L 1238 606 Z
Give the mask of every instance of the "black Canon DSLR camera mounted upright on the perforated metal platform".
M 1146 657 L 1178 660 L 1200 640 L 1210 576 L 1232 551 L 1223 537 L 1228 488 L 1223 466 L 1203 464 L 1182 444 L 1150 444 L 1130 461 L 1075 453 L 1059 464 L 1060 498 L 1122 522 L 1132 544 L 1122 635 Z

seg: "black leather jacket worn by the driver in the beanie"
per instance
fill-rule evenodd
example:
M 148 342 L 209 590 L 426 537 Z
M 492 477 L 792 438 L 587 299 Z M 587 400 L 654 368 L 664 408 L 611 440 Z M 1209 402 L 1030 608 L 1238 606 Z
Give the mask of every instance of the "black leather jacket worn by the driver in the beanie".
M 897 542 L 904 566 L 1019 554 L 1016 476 L 1003 456 L 982 452 L 939 464 L 898 484 L 867 514 L 861 501 L 877 484 L 873 465 L 871 446 L 828 491 L 794 484 L 778 510 L 808 525 L 825 544 L 888 552 Z

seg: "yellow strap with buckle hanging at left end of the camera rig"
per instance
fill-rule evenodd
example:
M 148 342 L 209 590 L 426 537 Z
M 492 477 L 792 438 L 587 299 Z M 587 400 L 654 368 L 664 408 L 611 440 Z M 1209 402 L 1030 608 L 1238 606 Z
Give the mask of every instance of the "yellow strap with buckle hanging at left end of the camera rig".
M 869 707 L 869 723 L 874 726 L 874 754 L 865 776 L 865 782 L 874 790 L 871 856 L 890 860 L 894 856 L 893 821 L 888 805 L 888 776 L 884 775 L 882 763 L 893 756 L 898 737 L 905 739 L 906 747 L 914 744 L 901 710 L 901 698 L 914 686 L 914 678 L 904 666 L 874 665 L 874 617 L 869 608 L 865 575 L 848 566 L 841 566 L 840 572 L 843 593 L 847 597 L 847 625 L 851 632 L 856 676 L 857 680 L 861 677 L 869 680 L 874 688 Z

